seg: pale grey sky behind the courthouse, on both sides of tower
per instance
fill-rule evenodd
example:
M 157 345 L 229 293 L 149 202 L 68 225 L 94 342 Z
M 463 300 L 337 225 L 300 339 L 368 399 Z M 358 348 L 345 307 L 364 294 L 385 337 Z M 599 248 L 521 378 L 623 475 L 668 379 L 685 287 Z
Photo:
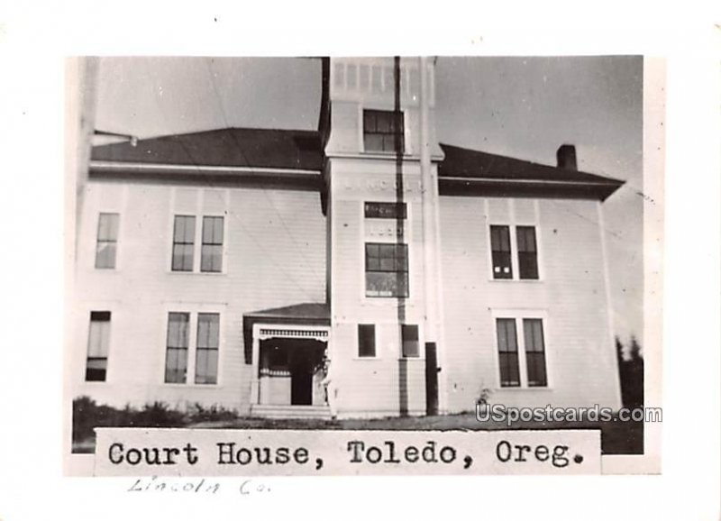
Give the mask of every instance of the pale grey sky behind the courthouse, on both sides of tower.
M 294 58 L 103 58 L 96 129 L 139 138 L 224 127 L 315 129 L 320 62 Z M 604 203 L 616 334 L 643 345 L 643 59 L 439 57 L 441 142 L 626 181 Z

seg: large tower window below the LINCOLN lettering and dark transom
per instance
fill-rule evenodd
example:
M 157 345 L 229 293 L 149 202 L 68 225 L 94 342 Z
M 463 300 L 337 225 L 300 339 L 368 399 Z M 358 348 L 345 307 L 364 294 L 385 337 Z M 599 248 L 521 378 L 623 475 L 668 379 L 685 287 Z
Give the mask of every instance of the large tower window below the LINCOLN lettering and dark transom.
M 408 297 L 408 246 L 366 243 L 366 296 Z

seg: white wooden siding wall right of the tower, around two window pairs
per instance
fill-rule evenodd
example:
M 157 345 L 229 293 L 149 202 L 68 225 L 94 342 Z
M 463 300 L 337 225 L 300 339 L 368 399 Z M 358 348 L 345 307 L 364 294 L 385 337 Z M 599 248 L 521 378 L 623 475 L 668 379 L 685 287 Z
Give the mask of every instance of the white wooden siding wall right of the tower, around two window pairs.
M 449 411 L 472 410 L 482 388 L 507 406 L 620 406 L 597 205 L 441 197 Z M 491 278 L 488 225 L 495 223 L 534 223 L 542 279 Z M 549 388 L 498 387 L 494 316 L 504 314 L 543 316 Z

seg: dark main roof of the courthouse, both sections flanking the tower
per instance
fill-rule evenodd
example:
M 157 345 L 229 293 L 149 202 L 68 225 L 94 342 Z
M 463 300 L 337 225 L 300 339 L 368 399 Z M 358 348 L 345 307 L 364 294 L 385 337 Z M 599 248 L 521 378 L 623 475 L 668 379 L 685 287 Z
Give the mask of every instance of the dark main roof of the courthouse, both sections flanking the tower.
M 623 181 L 572 169 L 541 165 L 526 160 L 441 144 L 445 159 L 438 165 L 439 191 L 452 196 L 580 197 L 600 200 L 613 194 Z M 317 178 L 296 178 L 292 170 L 310 170 L 320 175 L 324 153 L 320 133 L 315 131 L 227 128 L 199 133 L 169 135 L 135 142 L 99 145 L 91 160 L 93 175 L 116 176 L 140 165 L 175 165 L 176 177 L 188 173 L 187 166 L 250 169 L 283 169 L 277 174 L 279 187 L 322 190 Z M 129 163 L 127 166 L 123 163 Z M 165 177 L 169 172 L 153 175 Z M 150 175 L 147 171 L 145 175 Z M 206 179 L 229 180 L 227 174 L 204 172 Z M 241 178 L 242 174 L 234 174 Z M 284 177 L 285 176 L 285 177 Z M 273 179 L 264 179 L 270 182 Z M 248 179 L 245 182 L 249 182 Z M 260 182 L 260 181 L 259 181 Z M 294 185 L 295 183 L 295 185 Z

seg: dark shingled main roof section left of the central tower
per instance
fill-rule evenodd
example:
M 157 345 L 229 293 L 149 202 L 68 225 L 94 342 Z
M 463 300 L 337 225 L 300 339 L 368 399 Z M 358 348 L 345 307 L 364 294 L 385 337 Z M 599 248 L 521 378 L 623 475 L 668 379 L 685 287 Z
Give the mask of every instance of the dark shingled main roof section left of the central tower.
M 211 167 L 320 170 L 315 131 L 228 128 L 112 143 L 93 148 L 91 160 Z

